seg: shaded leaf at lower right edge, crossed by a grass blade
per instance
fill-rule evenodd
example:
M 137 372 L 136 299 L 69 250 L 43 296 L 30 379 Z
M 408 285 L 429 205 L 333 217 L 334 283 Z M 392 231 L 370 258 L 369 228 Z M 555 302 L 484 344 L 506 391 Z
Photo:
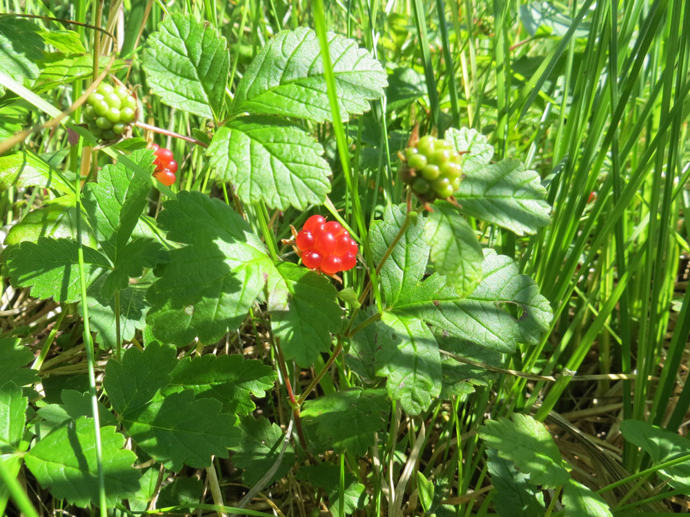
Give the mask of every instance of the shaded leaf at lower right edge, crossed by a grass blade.
M 690 440 L 667 429 L 641 420 L 623 420 L 620 423 L 623 437 L 651 456 L 654 463 L 664 463 L 688 454 Z M 674 488 L 690 486 L 690 460 L 661 469 L 662 478 L 669 478 Z

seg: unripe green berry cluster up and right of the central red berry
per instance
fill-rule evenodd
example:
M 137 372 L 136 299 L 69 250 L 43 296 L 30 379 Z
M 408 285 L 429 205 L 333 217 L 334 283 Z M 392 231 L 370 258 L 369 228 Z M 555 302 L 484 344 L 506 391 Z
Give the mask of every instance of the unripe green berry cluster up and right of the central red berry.
M 424 201 L 446 199 L 460 187 L 460 154 L 448 141 L 422 136 L 417 145 L 405 150 L 402 180 Z

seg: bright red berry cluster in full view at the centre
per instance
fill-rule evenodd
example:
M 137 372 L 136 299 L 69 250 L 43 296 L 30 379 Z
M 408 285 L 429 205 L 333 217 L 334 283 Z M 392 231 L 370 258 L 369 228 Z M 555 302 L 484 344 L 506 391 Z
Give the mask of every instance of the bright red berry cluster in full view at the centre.
M 334 275 L 357 264 L 357 243 L 337 221 L 311 216 L 295 237 L 302 263 L 310 270 Z

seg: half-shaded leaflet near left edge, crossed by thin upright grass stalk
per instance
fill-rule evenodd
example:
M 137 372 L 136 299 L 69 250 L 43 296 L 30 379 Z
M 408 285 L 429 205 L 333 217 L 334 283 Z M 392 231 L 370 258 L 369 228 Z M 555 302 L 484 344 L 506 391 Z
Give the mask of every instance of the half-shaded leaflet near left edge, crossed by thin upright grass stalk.
M 31 287 L 31 296 L 74 302 L 81 297 L 77 242 L 41 237 L 37 243 L 24 242 L 10 250 L 8 268 L 14 285 Z M 86 284 L 92 283 L 110 261 L 90 247 L 83 247 Z

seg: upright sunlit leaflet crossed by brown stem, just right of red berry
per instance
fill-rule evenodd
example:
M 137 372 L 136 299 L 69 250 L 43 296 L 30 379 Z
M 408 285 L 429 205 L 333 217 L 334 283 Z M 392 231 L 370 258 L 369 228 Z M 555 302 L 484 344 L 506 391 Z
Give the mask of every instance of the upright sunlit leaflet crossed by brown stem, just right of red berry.
M 388 246 L 402 227 L 406 216 L 405 205 L 388 205 L 382 221 L 375 221 L 369 231 L 371 252 L 379 263 Z M 381 270 L 380 279 L 388 307 L 395 306 L 398 298 L 413 289 L 426 270 L 429 247 L 424 237 L 423 217 L 410 223 L 391 256 Z

